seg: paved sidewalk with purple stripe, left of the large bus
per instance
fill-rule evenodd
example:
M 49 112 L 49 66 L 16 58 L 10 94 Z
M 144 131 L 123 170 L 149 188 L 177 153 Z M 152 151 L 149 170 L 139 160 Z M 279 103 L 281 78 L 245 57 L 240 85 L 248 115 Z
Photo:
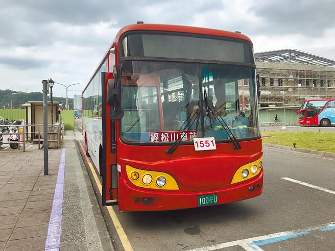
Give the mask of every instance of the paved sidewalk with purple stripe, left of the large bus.
M 46 176 L 43 149 L 0 150 L 0 251 L 113 250 L 75 139 L 49 149 Z

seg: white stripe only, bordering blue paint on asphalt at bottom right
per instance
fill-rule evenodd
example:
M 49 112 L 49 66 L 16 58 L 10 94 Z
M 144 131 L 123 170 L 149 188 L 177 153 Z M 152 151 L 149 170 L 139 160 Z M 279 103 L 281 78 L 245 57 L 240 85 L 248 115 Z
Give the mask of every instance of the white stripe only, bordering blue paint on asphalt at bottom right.
M 261 249 L 260 247 L 258 247 L 256 245 L 252 245 L 252 247 L 251 247 L 249 244 L 252 244 L 252 242 L 255 242 L 255 241 L 268 240 L 268 239 L 271 239 L 271 238 L 277 238 L 277 237 L 282 237 L 282 236 L 286 236 L 286 235 L 294 235 L 294 234 L 301 233 L 301 232 L 320 230 L 320 229 L 324 229 L 324 228 L 327 228 L 329 226 L 332 226 L 334 224 L 335 224 L 335 221 L 327 223 L 327 224 L 321 224 L 321 225 L 318 225 L 316 227 L 309 227 L 309 228 L 299 229 L 299 230 L 294 230 L 294 231 L 285 231 L 285 232 L 280 232 L 280 233 L 275 233 L 275 234 L 252 237 L 252 238 L 248 238 L 248 239 L 229 241 L 229 242 L 226 242 L 226 243 L 220 243 L 220 244 L 215 244 L 215 245 L 211 245 L 211 246 L 204 246 L 204 247 L 198 247 L 198 248 L 194 248 L 194 249 L 188 249 L 187 251 L 211 251 L 211 250 L 217 250 L 217 249 L 220 249 L 220 248 L 236 246 L 236 245 L 239 245 L 239 246 L 243 247 L 247 251 L 251 251 L 251 250 L 253 250 L 253 251 L 259 250 L 260 251 L 260 250 L 263 250 L 263 249 Z M 258 249 L 255 249 L 256 247 Z

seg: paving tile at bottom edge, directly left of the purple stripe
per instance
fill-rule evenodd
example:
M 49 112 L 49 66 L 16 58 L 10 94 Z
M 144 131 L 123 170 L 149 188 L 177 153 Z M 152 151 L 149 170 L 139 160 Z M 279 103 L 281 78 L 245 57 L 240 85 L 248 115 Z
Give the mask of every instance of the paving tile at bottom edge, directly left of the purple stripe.
M 44 250 L 46 236 L 10 240 L 6 247 L 6 251 L 32 251 L 32 250 Z

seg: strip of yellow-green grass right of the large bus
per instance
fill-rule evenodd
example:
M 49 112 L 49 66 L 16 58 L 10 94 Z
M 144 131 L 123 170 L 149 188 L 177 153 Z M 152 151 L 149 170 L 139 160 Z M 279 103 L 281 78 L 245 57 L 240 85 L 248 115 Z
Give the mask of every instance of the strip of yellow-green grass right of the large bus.
M 335 153 L 335 133 L 270 131 L 261 132 L 262 142 Z

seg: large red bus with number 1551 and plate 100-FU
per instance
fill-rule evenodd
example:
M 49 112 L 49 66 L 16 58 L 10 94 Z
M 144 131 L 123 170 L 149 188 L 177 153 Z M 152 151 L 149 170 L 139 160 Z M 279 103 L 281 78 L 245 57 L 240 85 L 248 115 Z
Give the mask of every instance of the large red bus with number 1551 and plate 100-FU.
M 195 208 L 262 192 L 253 45 L 238 32 L 122 28 L 83 93 L 103 205 Z

